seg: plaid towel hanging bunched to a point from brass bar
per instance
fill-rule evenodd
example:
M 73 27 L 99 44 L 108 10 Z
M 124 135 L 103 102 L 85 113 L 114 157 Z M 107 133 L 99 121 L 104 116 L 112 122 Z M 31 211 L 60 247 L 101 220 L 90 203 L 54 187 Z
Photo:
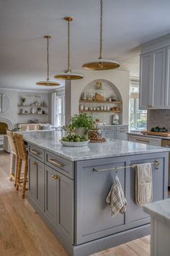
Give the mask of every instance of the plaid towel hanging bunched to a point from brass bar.
M 115 176 L 115 182 L 107 195 L 106 202 L 110 205 L 112 217 L 115 217 L 117 213 L 125 213 L 127 201 L 117 175 Z

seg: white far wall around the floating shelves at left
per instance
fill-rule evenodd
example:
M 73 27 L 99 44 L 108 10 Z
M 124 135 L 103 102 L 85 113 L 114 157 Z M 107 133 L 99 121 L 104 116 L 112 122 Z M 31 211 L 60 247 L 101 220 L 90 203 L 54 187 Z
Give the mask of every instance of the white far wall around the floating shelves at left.
M 35 93 L 34 91 L 19 92 L 17 90 L 4 90 L 0 88 L 0 93 L 4 93 L 9 98 L 9 108 L 0 113 L 0 118 L 9 119 L 12 122 L 13 127 L 16 127 L 18 123 L 27 123 L 29 119 L 39 119 L 40 122 L 48 122 L 48 115 L 45 116 L 19 116 L 18 113 L 21 108 L 18 105 L 21 102 L 21 98 L 26 98 L 29 95 L 40 95 L 40 102 L 45 101 L 48 105 L 48 93 Z M 36 99 L 29 99 L 29 101 L 36 101 Z M 27 102 L 26 102 L 27 103 Z

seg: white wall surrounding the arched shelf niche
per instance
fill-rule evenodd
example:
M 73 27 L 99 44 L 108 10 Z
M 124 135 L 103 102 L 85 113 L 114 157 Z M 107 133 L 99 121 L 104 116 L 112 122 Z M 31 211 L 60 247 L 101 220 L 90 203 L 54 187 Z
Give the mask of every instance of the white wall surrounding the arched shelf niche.
M 71 116 L 79 114 L 79 99 L 81 93 L 89 82 L 93 80 L 108 80 L 120 91 L 122 96 L 122 124 L 129 121 L 129 72 L 119 69 L 107 71 L 81 71 L 84 74 L 82 80 L 71 81 Z

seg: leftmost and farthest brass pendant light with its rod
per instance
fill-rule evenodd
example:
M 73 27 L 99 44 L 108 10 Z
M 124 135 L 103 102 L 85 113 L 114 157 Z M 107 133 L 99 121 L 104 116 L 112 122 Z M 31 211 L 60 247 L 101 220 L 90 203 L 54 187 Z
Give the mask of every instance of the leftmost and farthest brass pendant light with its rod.
M 36 82 L 36 85 L 42 86 L 58 86 L 60 85 L 58 82 L 51 81 L 49 77 L 49 39 L 51 38 L 50 35 L 45 35 L 44 38 L 47 39 L 47 80 L 46 81 L 39 81 Z

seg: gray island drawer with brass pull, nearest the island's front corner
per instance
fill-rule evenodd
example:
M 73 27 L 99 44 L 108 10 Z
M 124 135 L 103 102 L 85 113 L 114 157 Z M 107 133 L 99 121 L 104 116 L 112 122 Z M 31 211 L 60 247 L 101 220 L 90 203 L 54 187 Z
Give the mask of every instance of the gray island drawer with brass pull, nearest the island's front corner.
M 45 152 L 45 164 L 68 176 L 70 179 L 74 179 L 74 162 L 71 162 L 59 155 L 55 155 L 48 151 Z

